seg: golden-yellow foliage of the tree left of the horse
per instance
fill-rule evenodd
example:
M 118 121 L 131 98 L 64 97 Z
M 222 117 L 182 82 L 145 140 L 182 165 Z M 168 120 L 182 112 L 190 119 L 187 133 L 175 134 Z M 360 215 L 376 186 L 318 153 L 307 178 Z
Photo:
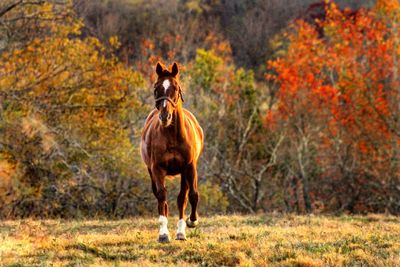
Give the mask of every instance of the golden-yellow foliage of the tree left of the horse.
M 37 15 L 38 6 L 29 6 L 30 14 Z M 56 8 L 61 6 L 64 7 L 57 4 Z M 50 18 L 53 7 L 45 5 L 41 12 L 41 18 L 45 13 Z M 60 16 L 70 14 L 68 10 L 61 13 Z M 139 106 L 135 94 L 143 78 L 120 64 L 108 45 L 106 50 L 96 38 L 77 37 L 82 24 L 73 17 L 39 21 L 37 17 L 24 21 L 24 39 L 10 41 L 7 51 L 0 53 L 0 95 L 4 99 L 1 141 L 12 144 L 12 148 L 5 149 L 17 155 L 14 181 L 34 180 L 32 186 L 27 183 L 27 190 L 24 185 L 23 194 L 42 201 L 41 198 L 46 199 L 43 188 L 47 188 L 47 178 L 62 181 L 63 186 L 57 188 L 62 193 L 64 179 L 81 175 L 75 164 L 79 164 L 82 177 L 86 173 L 97 176 L 107 168 L 112 169 L 113 175 L 132 177 L 136 170 L 128 166 L 132 162 L 132 144 L 125 125 Z M 110 44 L 120 45 L 118 38 L 110 38 Z M 87 160 L 91 153 L 96 160 Z M 8 204 L 1 196 L 6 181 L 2 179 L 1 160 L 0 180 L 4 183 L 0 181 L 0 203 Z M 39 171 L 34 173 L 27 166 Z M 12 196 L 18 199 L 19 188 L 11 189 L 16 189 Z M 58 202 L 50 203 L 51 208 L 46 205 L 37 214 L 46 216 L 51 208 L 60 207 Z

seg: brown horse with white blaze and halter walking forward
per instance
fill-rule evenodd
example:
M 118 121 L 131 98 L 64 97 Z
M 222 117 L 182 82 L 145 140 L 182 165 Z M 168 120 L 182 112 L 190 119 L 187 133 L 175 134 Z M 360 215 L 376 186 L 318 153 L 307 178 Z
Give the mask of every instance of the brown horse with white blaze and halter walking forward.
M 147 165 L 153 193 L 158 200 L 160 215 L 159 242 L 169 242 L 168 204 L 165 177 L 181 175 L 178 195 L 179 221 L 177 240 L 186 240 L 185 228 L 198 224 L 197 161 L 203 149 L 203 130 L 196 118 L 182 107 L 182 89 L 178 80 L 178 65 L 169 71 L 157 63 L 154 85 L 156 108 L 149 114 L 142 131 L 142 159 Z M 184 220 L 189 193 L 190 217 Z

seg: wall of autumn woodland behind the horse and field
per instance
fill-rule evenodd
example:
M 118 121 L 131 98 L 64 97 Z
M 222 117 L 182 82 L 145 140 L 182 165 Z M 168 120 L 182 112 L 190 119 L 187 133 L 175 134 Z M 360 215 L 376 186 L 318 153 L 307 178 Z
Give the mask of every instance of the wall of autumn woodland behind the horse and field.
M 399 23 L 396 0 L 3 0 L 0 217 L 154 214 L 159 60 L 205 132 L 200 213 L 399 214 Z

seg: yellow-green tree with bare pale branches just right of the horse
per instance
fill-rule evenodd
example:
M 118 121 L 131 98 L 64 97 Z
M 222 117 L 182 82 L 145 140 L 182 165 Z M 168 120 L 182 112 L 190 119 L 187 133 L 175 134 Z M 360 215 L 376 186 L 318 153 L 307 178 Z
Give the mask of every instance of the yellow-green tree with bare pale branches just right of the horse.
M 206 133 L 200 184 L 219 188 L 229 200 L 229 211 L 276 208 L 271 188 L 279 181 L 274 156 L 279 136 L 263 127 L 260 106 L 267 97 L 253 71 L 237 68 L 229 44 L 216 42 L 209 50 L 197 50 L 182 81 L 188 89 L 185 105 Z

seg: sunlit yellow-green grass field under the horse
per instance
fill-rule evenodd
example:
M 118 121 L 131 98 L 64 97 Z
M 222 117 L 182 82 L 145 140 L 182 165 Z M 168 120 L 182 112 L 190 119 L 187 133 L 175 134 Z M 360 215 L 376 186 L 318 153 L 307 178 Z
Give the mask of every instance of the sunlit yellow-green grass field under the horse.
M 157 218 L 3 221 L 0 265 L 400 266 L 393 216 L 216 216 L 187 236 L 159 244 Z

